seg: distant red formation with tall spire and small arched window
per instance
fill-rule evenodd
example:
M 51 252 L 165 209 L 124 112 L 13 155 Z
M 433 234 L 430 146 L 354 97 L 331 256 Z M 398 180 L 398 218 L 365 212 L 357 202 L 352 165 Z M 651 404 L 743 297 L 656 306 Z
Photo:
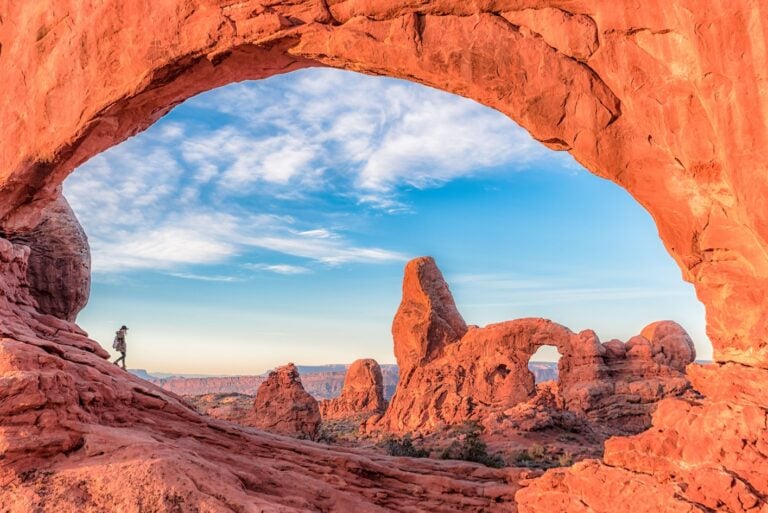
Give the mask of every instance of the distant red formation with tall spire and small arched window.
M 553 415 L 563 419 L 576 415 L 620 432 L 637 432 L 650 425 L 659 400 L 689 388 L 684 370 L 696 352 L 685 330 L 672 321 L 653 323 L 626 344 L 601 344 L 593 331 L 573 333 L 546 319 L 470 326 L 456 338 L 456 331 L 445 328 L 446 317 L 464 325 L 435 261 L 412 260 L 405 266 L 403 299 L 392 323 L 395 354 L 402 358 L 397 362 L 400 382 L 381 429 L 433 431 L 467 420 L 504 423 L 503 412 L 535 396 L 528 361 L 542 345 L 555 346 L 562 355 L 557 403 L 571 415 Z M 411 351 L 414 340 L 430 348 L 418 359 Z

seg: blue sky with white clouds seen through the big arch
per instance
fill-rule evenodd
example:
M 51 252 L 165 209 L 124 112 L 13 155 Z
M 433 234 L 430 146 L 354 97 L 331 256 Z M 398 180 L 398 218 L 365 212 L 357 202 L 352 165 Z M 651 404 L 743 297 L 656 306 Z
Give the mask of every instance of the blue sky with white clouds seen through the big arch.
M 622 189 L 508 118 L 423 86 L 311 69 L 188 100 L 82 165 L 78 322 L 134 368 L 394 362 L 402 268 L 432 255 L 471 324 L 547 317 L 602 340 L 704 310 Z M 554 352 L 543 352 L 553 359 Z

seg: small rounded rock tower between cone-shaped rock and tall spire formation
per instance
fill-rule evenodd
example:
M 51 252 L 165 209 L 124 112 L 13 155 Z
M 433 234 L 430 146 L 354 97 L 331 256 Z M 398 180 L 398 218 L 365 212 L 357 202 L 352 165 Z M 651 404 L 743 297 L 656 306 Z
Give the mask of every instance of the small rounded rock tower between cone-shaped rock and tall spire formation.
M 386 408 L 381 367 L 376 360 L 365 358 L 349 366 L 341 395 L 322 401 L 320 414 L 323 419 L 369 417 Z

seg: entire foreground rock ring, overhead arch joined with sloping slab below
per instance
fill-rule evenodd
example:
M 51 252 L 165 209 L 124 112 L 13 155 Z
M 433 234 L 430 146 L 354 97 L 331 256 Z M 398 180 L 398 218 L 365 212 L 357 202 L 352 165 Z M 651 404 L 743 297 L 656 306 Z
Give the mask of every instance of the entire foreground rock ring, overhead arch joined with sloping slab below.
M 0 509 L 765 511 L 767 11 L 766 0 L 0 0 Z M 514 506 L 516 475 L 395 466 L 205 419 L 109 365 L 65 319 L 75 289 L 48 306 L 35 297 L 38 243 L 8 239 L 43 225 L 73 169 L 194 94 L 307 66 L 472 98 L 624 187 L 706 307 L 714 363 L 688 366 L 704 398 L 662 400 L 647 432 L 606 445 L 606 464 L 527 481 Z M 443 314 L 429 340 L 462 345 L 469 332 Z M 441 358 L 416 336 L 398 358 Z

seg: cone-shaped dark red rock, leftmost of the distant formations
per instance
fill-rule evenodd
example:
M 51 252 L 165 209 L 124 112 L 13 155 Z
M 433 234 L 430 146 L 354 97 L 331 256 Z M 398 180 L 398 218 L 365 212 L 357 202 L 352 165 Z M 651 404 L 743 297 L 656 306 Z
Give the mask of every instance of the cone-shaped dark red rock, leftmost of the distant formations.
M 253 411 L 243 422 L 265 431 L 313 440 L 320 427 L 317 400 L 301 384 L 292 363 L 269 373 L 259 386 Z

